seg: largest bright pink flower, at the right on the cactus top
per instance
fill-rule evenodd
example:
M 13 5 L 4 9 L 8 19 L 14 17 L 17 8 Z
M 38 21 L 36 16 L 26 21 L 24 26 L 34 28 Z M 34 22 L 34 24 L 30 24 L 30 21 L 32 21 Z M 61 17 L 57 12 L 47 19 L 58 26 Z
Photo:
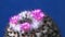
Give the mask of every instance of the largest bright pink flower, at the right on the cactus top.
M 41 12 L 41 10 L 35 10 L 31 12 L 31 16 L 37 21 L 40 21 L 44 16 L 44 14 Z

